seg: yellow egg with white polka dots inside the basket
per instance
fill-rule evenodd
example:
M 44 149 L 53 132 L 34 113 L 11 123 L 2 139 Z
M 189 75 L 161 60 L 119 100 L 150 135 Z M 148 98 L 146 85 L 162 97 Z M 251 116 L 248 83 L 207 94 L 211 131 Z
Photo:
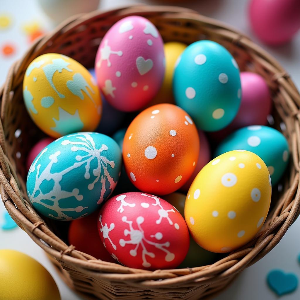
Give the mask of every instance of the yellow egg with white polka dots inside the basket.
M 227 253 L 261 229 L 271 203 L 271 177 L 256 154 L 234 150 L 210 161 L 187 193 L 184 216 L 202 248 Z

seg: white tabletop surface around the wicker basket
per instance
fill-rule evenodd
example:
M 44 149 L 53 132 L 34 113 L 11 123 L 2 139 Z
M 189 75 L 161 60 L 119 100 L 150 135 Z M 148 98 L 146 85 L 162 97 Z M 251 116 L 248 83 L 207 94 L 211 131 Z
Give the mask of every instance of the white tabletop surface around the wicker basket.
M 100 3 L 100 9 L 141 2 L 158 4 L 163 1 L 102 0 Z M 170 3 L 171 1 L 168 2 Z M 193 8 L 203 15 L 222 20 L 232 26 L 235 26 L 240 31 L 245 32 L 255 42 L 261 44 L 257 41 L 256 37 L 253 36 L 248 26 L 247 0 L 194 0 L 190 1 L 190 3 L 189 1 L 182 2 L 184 2 L 185 6 Z M 24 11 L 26 11 L 26 13 L 24 13 Z M 4 58 L 3 56 L 1 57 L 0 54 L 0 85 L 5 80 L 9 66 L 16 58 L 22 56 L 22 53 L 26 50 L 26 46 L 28 45 L 24 35 L 20 34 L 20 26 L 22 26 L 25 22 L 31 22 L 32 20 L 41 22 L 45 31 L 51 29 L 53 26 L 51 21 L 47 19 L 34 0 L 0 0 L 0 15 L 3 13 L 13 16 L 15 29 L 11 29 L 9 34 L 5 31 L 0 31 L 0 46 L 4 41 L 14 41 L 17 45 L 17 53 L 12 58 Z M 264 45 L 262 46 L 269 53 L 274 55 L 275 58 L 277 58 L 299 88 L 300 34 L 298 34 L 290 44 L 285 46 L 277 48 L 270 48 Z M 4 210 L 4 205 L 0 202 L 0 224 L 2 223 L 1 218 Z M 299 236 L 299 232 L 300 218 L 292 225 L 280 243 L 270 253 L 268 253 L 267 256 L 255 265 L 244 270 L 228 289 L 217 295 L 214 299 L 277 299 L 277 296 L 271 292 L 266 285 L 266 274 L 273 268 L 281 268 L 286 272 L 293 272 L 298 276 L 298 278 L 300 278 L 300 264 L 297 262 L 297 256 L 300 253 L 300 239 L 295 238 Z M 20 228 L 8 231 L 0 229 L 0 248 L 10 248 L 22 251 L 41 262 L 41 264 L 43 264 L 54 277 L 60 290 L 62 300 L 82 299 L 64 284 L 56 273 L 51 262 L 47 259 L 43 250 L 41 250 L 41 248 L 36 245 Z M 295 292 L 282 297 L 283 300 L 294 300 L 299 298 L 300 287 L 298 287 Z

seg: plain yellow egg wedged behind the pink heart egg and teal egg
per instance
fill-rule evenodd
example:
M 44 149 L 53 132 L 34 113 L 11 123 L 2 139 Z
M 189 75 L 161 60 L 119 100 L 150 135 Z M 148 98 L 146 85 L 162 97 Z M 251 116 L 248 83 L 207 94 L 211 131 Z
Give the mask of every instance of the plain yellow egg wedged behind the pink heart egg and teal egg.
M 186 44 L 179 42 L 167 42 L 164 44 L 166 62 L 164 80 L 157 95 L 150 101 L 146 108 L 159 103 L 175 104 L 172 91 L 173 73 L 176 62 L 186 47 Z

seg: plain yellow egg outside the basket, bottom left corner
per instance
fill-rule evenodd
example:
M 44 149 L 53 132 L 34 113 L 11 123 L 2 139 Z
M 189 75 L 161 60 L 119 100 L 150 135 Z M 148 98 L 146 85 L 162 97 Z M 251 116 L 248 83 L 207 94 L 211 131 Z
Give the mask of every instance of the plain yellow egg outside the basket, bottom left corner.
M 0 250 L 1 300 L 60 300 L 55 281 L 35 259 L 16 250 Z

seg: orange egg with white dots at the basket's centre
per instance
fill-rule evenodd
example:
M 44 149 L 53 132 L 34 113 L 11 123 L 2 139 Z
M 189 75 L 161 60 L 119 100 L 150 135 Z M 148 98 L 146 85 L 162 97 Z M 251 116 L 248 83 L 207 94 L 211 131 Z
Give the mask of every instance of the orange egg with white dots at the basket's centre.
M 123 161 L 131 182 L 143 192 L 166 195 L 190 178 L 199 155 L 199 136 L 190 116 L 173 104 L 143 110 L 129 125 Z

